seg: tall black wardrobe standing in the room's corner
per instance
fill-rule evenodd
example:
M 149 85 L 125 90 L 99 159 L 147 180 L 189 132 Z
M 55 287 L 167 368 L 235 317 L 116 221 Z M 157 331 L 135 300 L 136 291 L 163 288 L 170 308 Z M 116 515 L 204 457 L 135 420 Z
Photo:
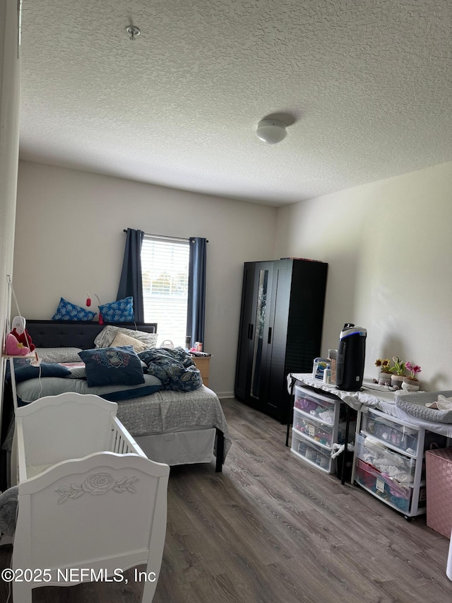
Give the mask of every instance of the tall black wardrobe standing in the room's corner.
M 234 394 L 281 423 L 290 416 L 289 373 L 320 356 L 328 264 L 246 262 Z

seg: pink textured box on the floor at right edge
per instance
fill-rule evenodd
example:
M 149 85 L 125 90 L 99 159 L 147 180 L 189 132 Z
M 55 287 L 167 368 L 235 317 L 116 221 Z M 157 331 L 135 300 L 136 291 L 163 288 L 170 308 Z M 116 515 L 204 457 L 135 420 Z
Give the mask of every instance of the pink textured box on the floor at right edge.
M 427 525 L 451 537 L 452 530 L 452 448 L 427 450 Z

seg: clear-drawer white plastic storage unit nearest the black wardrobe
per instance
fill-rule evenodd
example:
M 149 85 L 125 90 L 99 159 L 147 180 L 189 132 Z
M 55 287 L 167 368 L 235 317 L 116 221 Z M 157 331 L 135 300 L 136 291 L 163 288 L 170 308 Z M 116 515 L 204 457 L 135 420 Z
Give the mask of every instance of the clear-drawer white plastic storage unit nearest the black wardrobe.
M 318 394 L 295 385 L 290 450 L 316 469 L 332 474 L 336 460 L 331 458 L 333 444 L 344 443 L 345 421 L 340 421 L 338 397 Z M 355 435 L 356 422 L 350 421 L 349 441 Z

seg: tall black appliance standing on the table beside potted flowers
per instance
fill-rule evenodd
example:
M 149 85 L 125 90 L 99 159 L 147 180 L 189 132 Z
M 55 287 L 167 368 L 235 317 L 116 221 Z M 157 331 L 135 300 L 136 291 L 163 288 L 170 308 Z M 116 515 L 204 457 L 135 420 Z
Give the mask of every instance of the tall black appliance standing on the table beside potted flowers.
M 339 390 L 357 392 L 364 376 L 367 330 L 346 322 L 339 336 L 336 385 Z

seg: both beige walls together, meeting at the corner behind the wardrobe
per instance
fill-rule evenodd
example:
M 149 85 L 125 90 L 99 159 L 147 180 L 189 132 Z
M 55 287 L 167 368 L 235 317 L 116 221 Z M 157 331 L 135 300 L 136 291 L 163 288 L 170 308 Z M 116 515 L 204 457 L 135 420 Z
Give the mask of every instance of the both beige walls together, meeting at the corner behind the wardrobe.
M 124 228 L 208 245 L 210 383 L 234 386 L 243 262 L 328 262 L 322 353 L 344 322 L 365 327 L 366 375 L 400 356 L 428 390 L 452 389 L 452 163 L 283 208 L 20 163 L 14 260 L 20 309 L 52 316 L 61 295 L 84 304 L 117 292 Z

